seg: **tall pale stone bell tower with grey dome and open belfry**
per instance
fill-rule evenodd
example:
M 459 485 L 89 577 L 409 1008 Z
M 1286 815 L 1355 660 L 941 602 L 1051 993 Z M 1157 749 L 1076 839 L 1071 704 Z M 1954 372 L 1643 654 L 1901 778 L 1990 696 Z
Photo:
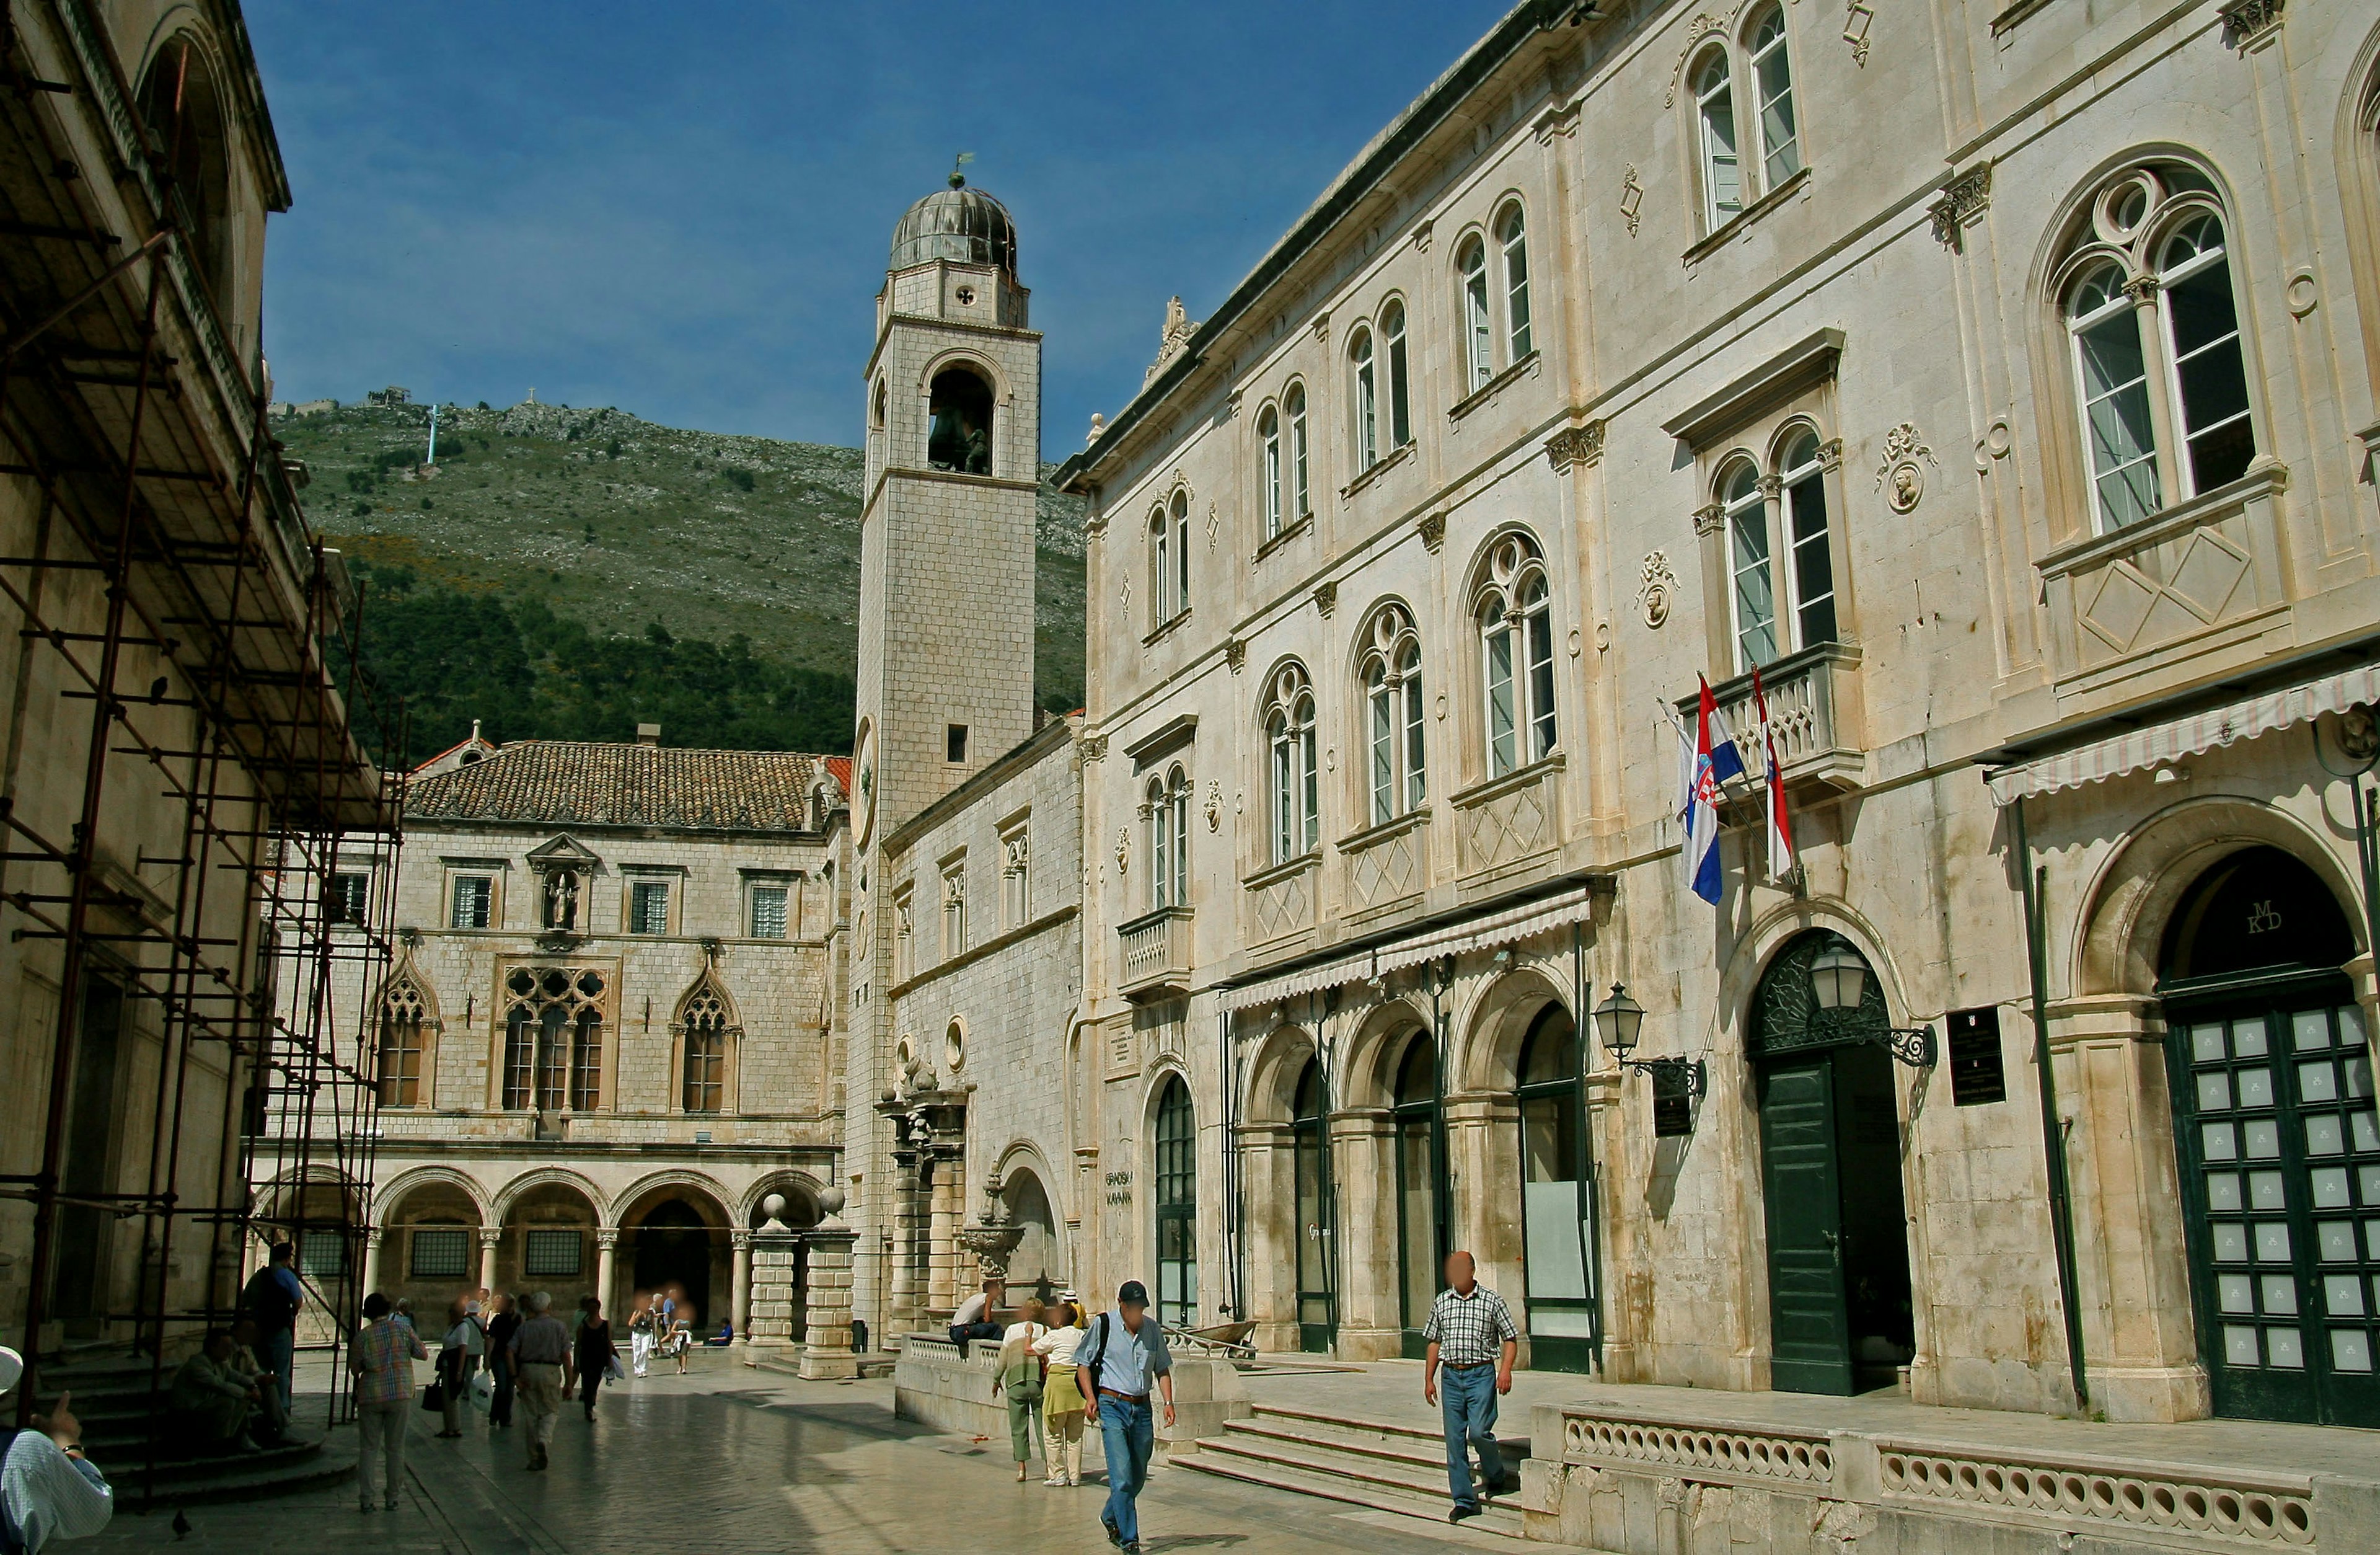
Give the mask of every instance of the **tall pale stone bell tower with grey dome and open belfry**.
M 1040 336 L 1007 207 L 950 174 L 892 229 L 866 367 L 852 833 L 1033 733 Z

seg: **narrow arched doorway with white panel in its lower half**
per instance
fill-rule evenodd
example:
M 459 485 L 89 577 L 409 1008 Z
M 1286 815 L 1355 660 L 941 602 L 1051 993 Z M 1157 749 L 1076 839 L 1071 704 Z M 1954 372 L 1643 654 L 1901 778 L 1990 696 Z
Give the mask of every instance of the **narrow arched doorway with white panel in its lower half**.
M 1528 1269 L 1528 1364 L 1595 1364 L 1595 1174 L 1578 1093 L 1578 1022 L 1547 1005 L 1521 1038 L 1521 1236 Z

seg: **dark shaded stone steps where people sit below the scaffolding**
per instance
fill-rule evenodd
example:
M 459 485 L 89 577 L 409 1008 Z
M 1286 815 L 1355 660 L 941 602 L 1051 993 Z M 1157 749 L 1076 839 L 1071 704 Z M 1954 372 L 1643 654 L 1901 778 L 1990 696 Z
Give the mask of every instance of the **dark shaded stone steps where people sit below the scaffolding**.
M 174 1364 L 167 1364 L 162 1381 L 171 1379 Z M 338 1484 L 355 1472 L 352 1426 L 336 1429 L 328 1441 L 293 1438 L 259 1453 L 198 1457 L 162 1448 L 150 1465 L 150 1429 L 164 1422 L 167 1398 L 164 1388 L 152 1388 L 150 1357 L 133 1355 L 124 1345 L 69 1348 L 43 1364 L 40 1391 L 43 1400 L 60 1391 L 74 1393 L 71 1410 L 83 1422 L 83 1448 L 114 1486 L 117 1505 L 126 1510 L 286 1495 Z M 319 1400 L 298 1403 L 300 1407 L 314 1403 L 319 1415 Z

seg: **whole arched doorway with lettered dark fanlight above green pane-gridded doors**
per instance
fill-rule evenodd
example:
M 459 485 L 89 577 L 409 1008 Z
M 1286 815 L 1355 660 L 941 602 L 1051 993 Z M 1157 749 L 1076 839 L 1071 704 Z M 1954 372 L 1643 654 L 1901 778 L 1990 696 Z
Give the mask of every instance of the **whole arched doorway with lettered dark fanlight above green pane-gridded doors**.
M 2380 1426 L 2380 1119 L 2354 931 L 2320 876 L 2244 848 L 2159 957 L 2199 1355 L 2218 1415 Z

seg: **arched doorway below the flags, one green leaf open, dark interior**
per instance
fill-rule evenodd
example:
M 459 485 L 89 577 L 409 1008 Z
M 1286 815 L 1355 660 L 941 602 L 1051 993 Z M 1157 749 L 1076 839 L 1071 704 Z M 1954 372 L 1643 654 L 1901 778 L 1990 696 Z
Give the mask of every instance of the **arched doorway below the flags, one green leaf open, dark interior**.
M 1825 1010 L 1811 962 L 1859 950 L 1792 938 L 1752 993 L 1749 1057 L 1768 1210 L 1768 1374 L 1780 1393 L 1887 1388 L 1916 1355 L 1892 1019 L 1875 969 L 1856 1010 Z M 1866 967 L 1866 957 L 1859 957 Z

